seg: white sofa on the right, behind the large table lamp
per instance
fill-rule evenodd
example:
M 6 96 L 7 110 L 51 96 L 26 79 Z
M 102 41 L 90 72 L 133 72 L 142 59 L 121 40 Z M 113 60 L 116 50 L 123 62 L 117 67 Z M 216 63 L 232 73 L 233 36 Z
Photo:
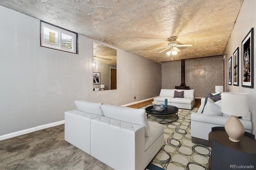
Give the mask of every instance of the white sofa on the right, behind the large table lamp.
M 224 114 L 213 115 L 214 113 L 221 111 L 221 100 L 218 102 L 218 107 L 220 107 L 219 111 L 214 109 L 216 107 L 212 107 L 211 109 L 208 105 L 204 108 L 204 102 L 205 99 L 201 99 L 201 105 L 197 113 L 191 114 L 191 138 L 194 143 L 208 146 L 208 134 L 212 131 L 212 127 L 224 127 L 229 116 Z M 203 109 L 204 113 L 202 113 Z M 248 116 L 241 117 L 239 120 L 244 125 L 244 130 L 251 133 L 252 122 L 250 112 L 248 113 Z

